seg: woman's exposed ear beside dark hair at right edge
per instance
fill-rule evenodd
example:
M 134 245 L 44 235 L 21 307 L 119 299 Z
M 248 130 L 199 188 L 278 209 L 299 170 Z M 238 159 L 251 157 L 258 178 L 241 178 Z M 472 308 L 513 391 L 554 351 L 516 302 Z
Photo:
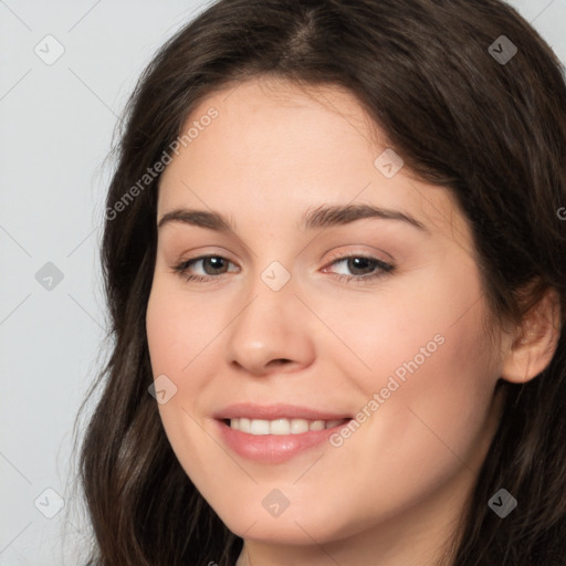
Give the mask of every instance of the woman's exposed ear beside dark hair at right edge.
M 560 297 L 553 287 L 528 311 L 510 339 L 501 377 L 524 384 L 536 377 L 551 363 L 560 336 Z

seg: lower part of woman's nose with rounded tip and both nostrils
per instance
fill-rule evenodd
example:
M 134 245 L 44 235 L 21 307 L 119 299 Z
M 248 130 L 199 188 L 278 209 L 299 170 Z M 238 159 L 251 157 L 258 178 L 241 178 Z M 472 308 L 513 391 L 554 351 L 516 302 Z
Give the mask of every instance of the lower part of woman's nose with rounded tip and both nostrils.
M 312 314 L 292 282 L 273 291 L 259 281 L 227 328 L 228 363 L 254 376 L 294 373 L 313 363 Z

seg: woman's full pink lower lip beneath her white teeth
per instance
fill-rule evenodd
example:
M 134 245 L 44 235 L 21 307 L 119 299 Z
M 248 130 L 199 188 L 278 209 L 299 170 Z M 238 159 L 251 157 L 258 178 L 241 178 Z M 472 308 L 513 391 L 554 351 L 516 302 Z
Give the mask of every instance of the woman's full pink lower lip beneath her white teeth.
M 217 420 L 220 436 L 237 454 L 248 460 L 277 464 L 305 452 L 347 424 L 338 424 L 324 430 L 310 430 L 301 434 L 249 434 L 230 428 L 224 421 Z

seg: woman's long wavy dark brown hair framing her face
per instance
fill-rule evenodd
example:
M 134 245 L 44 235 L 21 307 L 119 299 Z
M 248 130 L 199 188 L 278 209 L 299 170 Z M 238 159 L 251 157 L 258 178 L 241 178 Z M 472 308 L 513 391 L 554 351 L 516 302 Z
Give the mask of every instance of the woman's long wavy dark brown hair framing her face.
M 503 51 L 501 35 L 517 48 L 506 62 L 490 49 L 495 42 Z M 94 532 L 90 564 L 232 566 L 242 548 L 177 461 L 148 395 L 145 317 L 159 175 L 124 198 L 170 150 L 199 102 L 254 77 L 353 94 L 405 170 L 457 198 L 494 319 L 520 324 L 554 289 L 564 321 L 564 67 L 515 10 L 499 0 L 213 3 L 156 54 L 119 130 L 102 244 L 112 352 L 85 399 L 99 391 L 77 475 Z M 454 566 L 566 564 L 566 336 L 559 332 L 536 378 L 497 382 L 505 406 L 453 543 Z M 488 506 L 503 486 L 518 501 L 506 518 Z

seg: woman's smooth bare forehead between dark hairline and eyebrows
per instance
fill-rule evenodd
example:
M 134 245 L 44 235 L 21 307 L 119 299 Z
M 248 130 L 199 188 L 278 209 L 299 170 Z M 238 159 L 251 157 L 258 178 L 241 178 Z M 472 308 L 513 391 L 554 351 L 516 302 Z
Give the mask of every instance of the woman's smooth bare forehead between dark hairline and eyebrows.
M 212 111 L 217 117 L 205 119 Z M 406 168 L 384 175 L 386 136 L 338 87 L 248 81 L 201 101 L 181 135 L 190 128 L 195 137 L 161 176 L 159 214 L 206 205 L 238 217 L 249 210 L 258 221 L 262 207 L 290 219 L 322 203 L 367 202 L 410 211 L 432 230 L 452 238 L 455 228 L 469 239 L 448 189 L 411 178 Z

